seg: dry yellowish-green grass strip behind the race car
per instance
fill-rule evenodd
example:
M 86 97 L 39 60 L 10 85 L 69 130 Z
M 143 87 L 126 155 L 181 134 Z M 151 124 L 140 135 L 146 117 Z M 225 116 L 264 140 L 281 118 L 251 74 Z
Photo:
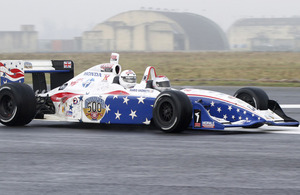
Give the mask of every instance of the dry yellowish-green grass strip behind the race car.
M 119 52 L 122 69 L 141 79 L 147 66 L 166 75 L 173 85 L 257 85 L 300 87 L 297 52 Z M 73 60 L 75 75 L 109 62 L 110 53 L 0 54 L 6 59 Z M 26 81 L 31 78 L 26 76 Z

